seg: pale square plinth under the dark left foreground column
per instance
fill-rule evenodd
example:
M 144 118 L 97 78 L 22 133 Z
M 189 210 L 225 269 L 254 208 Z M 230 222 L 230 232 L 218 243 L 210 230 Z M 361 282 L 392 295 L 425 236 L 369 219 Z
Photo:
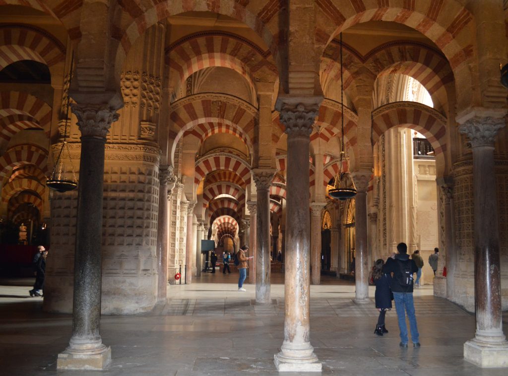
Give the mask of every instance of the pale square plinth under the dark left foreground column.
M 105 346 L 101 352 L 76 352 L 66 349 L 58 354 L 56 369 L 105 369 L 111 363 L 111 348 Z

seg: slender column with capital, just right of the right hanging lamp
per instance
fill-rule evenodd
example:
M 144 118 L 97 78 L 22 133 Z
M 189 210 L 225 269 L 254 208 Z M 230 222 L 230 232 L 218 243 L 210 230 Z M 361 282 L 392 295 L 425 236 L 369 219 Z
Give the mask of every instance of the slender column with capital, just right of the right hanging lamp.
M 355 230 L 356 230 L 356 262 L 355 262 L 355 302 L 370 303 L 369 301 L 369 241 L 367 238 L 367 188 L 369 186 L 370 171 L 356 171 L 352 174 L 356 185 L 355 196 Z

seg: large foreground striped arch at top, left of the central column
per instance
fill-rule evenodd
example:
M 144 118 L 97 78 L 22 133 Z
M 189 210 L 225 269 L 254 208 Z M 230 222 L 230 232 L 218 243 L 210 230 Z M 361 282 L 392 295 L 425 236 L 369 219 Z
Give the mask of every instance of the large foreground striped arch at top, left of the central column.
M 122 66 L 123 60 L 136 39 L 145 30 L 158 21 L 183 12 L 213 12 L 232 17 L 245 22 L 263 39 L 273 55 L 273 61 L 278 62 L 277 42 L 273 38 L 271 28 L 267 23 L 278 22 L 276 17 L 280 5 L 277 3 L 275 11 L 271 3 L 259 2 L 231 2 L 230 0 L 186 1 L 186 0 L 148 0 L 143 5 L 137 2 L 121 2 L 118 4 L 122 14 L 116 17 L 113 26 L 113 38 L 119 42 L 116 53 L 116 65 Z M 268 6 L 268 9 L 265 9 Z

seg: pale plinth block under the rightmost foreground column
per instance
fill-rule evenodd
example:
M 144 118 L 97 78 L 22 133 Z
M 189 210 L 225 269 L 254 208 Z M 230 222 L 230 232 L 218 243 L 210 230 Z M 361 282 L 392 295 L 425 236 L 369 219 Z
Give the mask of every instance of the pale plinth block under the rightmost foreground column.
M 486 343 L 470 339 L 464 343 L 464 360 L 482 368 L 508 367 L 508 342 Z

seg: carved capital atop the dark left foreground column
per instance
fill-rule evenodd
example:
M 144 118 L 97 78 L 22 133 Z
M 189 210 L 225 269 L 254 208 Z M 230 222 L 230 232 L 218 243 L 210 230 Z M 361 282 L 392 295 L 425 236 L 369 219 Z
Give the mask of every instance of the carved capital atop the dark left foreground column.
M 82 136 L 106 138 L 111 123 L 120 116 L 109 105 L 91 105 L 71 103 L 71 111 L 78 118 L 78 127 Z

